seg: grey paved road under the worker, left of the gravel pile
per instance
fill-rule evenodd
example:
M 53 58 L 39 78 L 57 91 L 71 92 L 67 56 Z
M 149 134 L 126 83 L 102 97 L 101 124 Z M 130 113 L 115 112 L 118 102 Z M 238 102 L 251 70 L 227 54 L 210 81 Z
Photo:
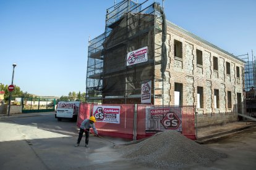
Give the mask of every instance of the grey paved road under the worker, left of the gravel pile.
M 53 115 L 0 120 L 0 169 L 147 169 L 120 158 L 111 142 L 90 136 L 80 147 L 74 121 Z M 111 139 L 108 139 L 111 140 Z M 122 144 L 124 140 L 114 140 Z

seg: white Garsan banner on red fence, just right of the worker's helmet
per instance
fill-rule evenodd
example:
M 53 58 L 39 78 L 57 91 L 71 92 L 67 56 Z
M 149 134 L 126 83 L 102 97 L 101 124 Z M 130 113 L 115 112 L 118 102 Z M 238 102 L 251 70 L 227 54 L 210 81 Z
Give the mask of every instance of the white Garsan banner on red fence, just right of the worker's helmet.
M 97 122 L 120 123 L 120 106 L 94 105 L 93 116 Z

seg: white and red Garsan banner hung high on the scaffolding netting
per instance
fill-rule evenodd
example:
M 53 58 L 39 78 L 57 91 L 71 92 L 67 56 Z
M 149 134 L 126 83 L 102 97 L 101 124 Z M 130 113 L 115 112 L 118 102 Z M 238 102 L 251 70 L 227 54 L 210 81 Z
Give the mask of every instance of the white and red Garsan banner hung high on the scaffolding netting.
M 148 47 L 143 47 L 135 51 L 128 52 L 126 65 L 134 65 L 137 63 L 148 61 Z

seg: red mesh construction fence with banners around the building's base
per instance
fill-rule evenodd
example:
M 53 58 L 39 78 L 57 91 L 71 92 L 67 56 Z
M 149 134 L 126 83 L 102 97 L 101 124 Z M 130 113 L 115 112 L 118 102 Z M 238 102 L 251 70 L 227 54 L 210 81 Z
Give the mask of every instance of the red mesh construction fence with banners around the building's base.
M 96 117 L 96 129 L 100 135 L 121 137 L 127 139 L 143 139 L 152 136 L 156 132 L 164 131 L 163 119 L 151 119 L 151 116 L 159 116 L 151 114 L 149 111 L 167 110 L 171 116 L 176 116 L 179 129 L 182 134 L 189 139 L 195 140 L 195 108 L 194 107 L 154 107 L 153 105 L 137 105 L 137 122 L 134 131 L 134 110 L 135 105 L 93 105 L 93 104 L 80 104 L 79 117 L 77 119 L 77 126 L 80 127 L 83 119 L 89 118 L 90 115 Z M 114 111 L 113 113 L 111 111 Z M 147 114 L 146 114 L 147 111 Z M 148 118 L 146 118 L 148 115 Z M 167 119 L 167 112 L 162 116 Z M 108 119 L 109 118 L 109 119 Z M 114 119 L 114 122 L 111 122 Z M 154 121 L 156 121 L 154 123 Z M 168 121 L 168 120 L 167 120 Z M 147 123 L 147 124 L 146 124 Z M 149 123 L 149 124 L 148 124 Z M 152 124 L 153 123 L 153 124 Z M 153 127 L 151 127 L 153 126 Z M 177 127 L 177 128 L 178 128 Z M 153 130 L 150 130 L 153 128 Z M 174 128 L 175 129 L 175 128 Z M 146 132 L 147 131 L 147 132 Z

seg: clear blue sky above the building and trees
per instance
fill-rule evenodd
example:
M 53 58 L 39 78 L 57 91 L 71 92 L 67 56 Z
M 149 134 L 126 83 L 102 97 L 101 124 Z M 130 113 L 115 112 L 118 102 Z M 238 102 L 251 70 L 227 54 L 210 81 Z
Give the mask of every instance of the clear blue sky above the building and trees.
M 121 0 L 116 0 L 120 2 Z M 153 0 L 150 0 L 153 2 Z M 142 0 L 139 0 L 142 2 Z M 162 1 L 159 1 L 162 3 Z M 114 0 L 0 0 L 0 83 L 30 94 L 85 92 L 88 39 Z M 165 0 L 167 20 L 234 55 L 256 55 L 255 0 Z

